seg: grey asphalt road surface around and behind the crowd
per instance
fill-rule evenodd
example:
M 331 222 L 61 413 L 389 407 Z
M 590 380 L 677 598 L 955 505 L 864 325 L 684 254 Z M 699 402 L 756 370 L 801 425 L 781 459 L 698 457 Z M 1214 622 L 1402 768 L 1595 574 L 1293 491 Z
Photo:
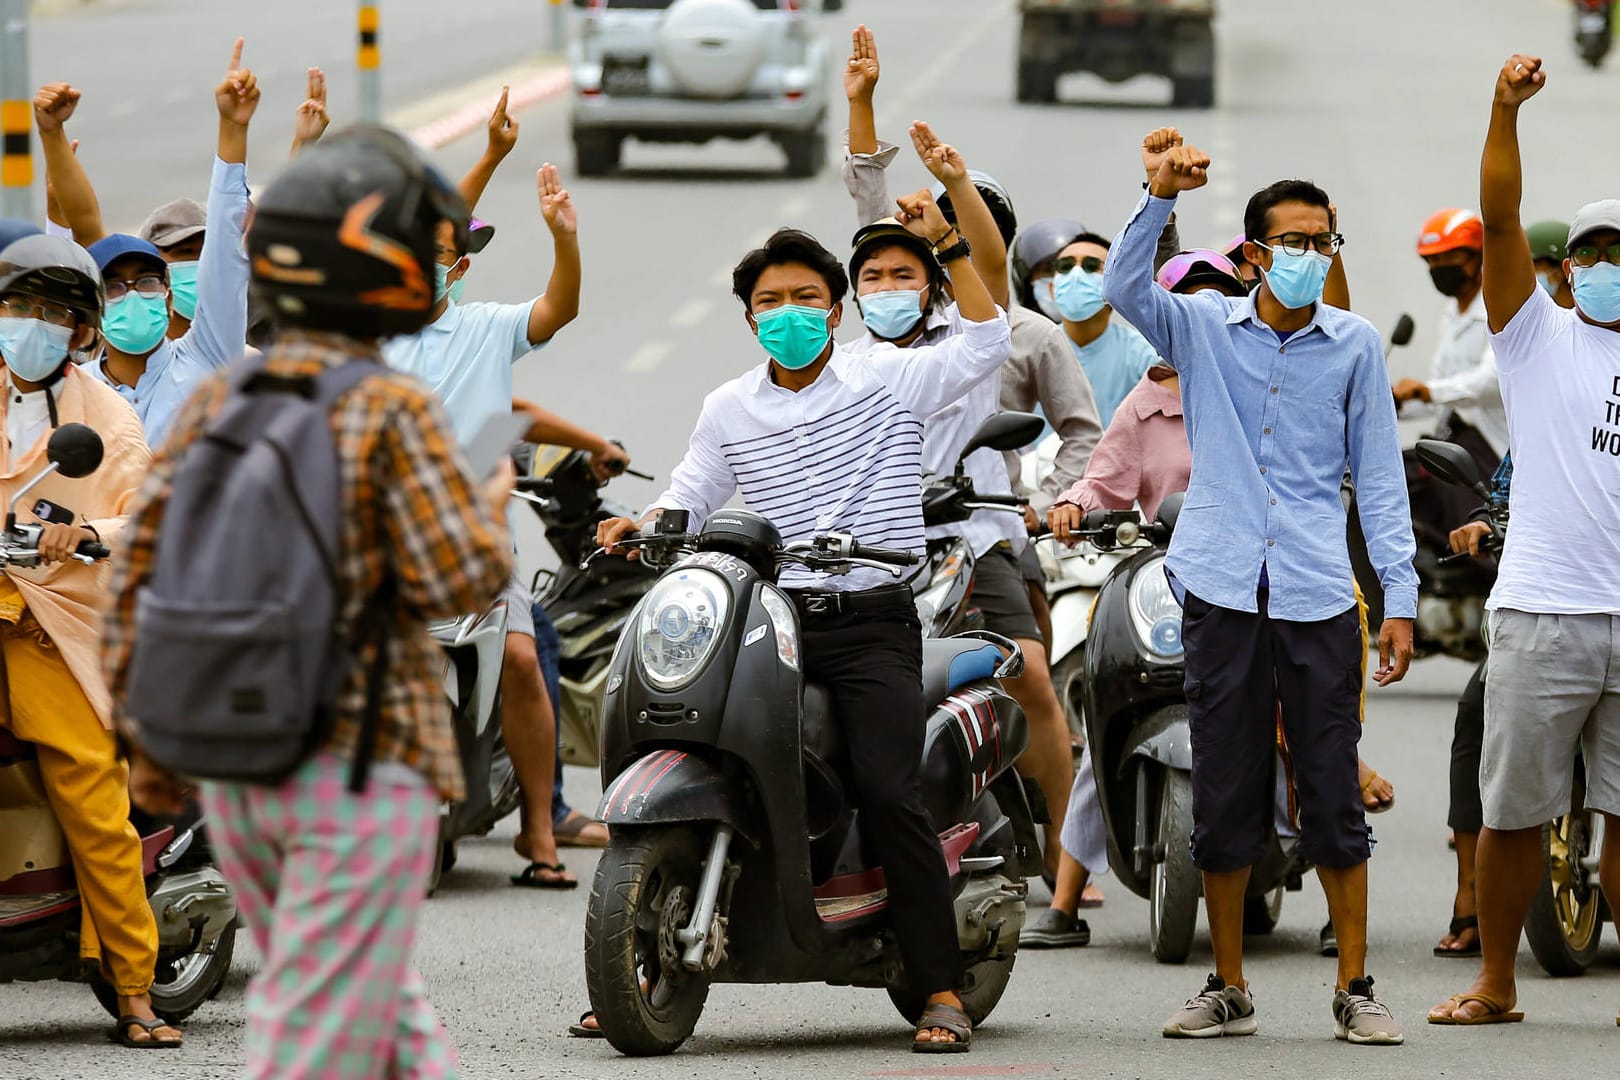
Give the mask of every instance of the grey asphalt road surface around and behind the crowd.
M 512 63 L 544 42 L 541 3 L 465 0 L 384 5 L 389 105 L 436 94 Z M 829 16 L 844 39 L 855 21 L 878 32 L 885 76 L 880 130 L 902 141 L 927 118 L 969 165 L 1013 191 L 1021 217 L 1079 217 L 1098 232 L 1123 223 L 1140 193 L 1136 146 L 1176 123 L 1215 159 L 1207 189 L 1183 201 L 1189 243 L 1238 232 L 1249 191 L 1283 175 L 1312 176 L 1335 198 L 1354 306 L 1379 325 L 1409 311 L 1419 337 L 1392 363 L 1422 374 L 1440 298 L 1413 254 L 1418 225 L 1442 206 L 1477 202 L 1479 142 L 1490 84 L 1513 50 L 1549 58 L 1550 81 L 1526 107 L 1526 214 L 1568 217 L 1614 194 L 1614 71 L 1583 70 L 1568 44 L 1567 5 L 1554 0 L 1361 0 L 1354 5 L 1244 0 L 1223 5 L 1220 105 L 1170 110 L 1168 87 L 1139 79 L 1108 87 L 1066 84 L 1066 104 L 1016 107 L 1016 16 L 1006 0 L 852 0 Z M 253 175 L 267 178 L 284 152 L 303 68 L 327 66 L 334 113 L 353 102 L 348 5 L 154 0 L 104 15 L 36 23 L 34 76 L 86 89 L 75 134 L 104 185 L 109 220 L 134 223 L 152 204 L 201 193 L 212 139 L 209 89 L 230 39 L 248 36 L 248 58 L 267 76 Z M 274 71 L 274 73 L 272 73 Z M 181 94 L 183 91 L 183 94 Z M 838 96 L 836 96 L 838 99 Z M 1085 104 L 1081 104 L 1085 102 Z M 1102 102 L 1102 104 L 1098 104 Z M 120 105 L 122 104 L 122 105 Z M 120 112 L 122 110 L 122 112 Z M 117 115 L 113 115 L 117 113 Z M 531 108 L 518 151 L 480 215 L 499 228 L 468 279 L 470 298 L 522 300 L 543 288 L 549 254 L 533 170 L 572 170 L 564 100 Z M 833 130 L 842 128 L 834 115 Z M 452 172 L 478 154 L 478 136 L 444 149 Z M 580 207 L 585 298 L 580 321 L 523 361 L 517 387 L 599 431 L 625 439 L 638 463 L 664 476 L 685 447 L 703 393 L 757 361 L 729 296 L 729 270 L 750 243 L 781 223 L 847 241 L 854 214 L 836 173 L 813 181 L 778 176 L 765 142 L 698 147 L 632 146 L 625 172 L 570 181 Z M 115 188 L 113 178 L 125 178 Z M 927 180 L 902 155 L 893 186 Z M 645 481 L 616 484 L 625 502 L 656 494 Z M 546 562 L 536 531 L 522 534 L 526 568 Z M 1103 882 L 1108 904 L 1090 916 L 1085 950 L 1021 957 L 1017 975 L 969 1057 L 919 1059 L 906 1031 L 872 991 L 716 988 L 705 1023 L 676 1057 L 637 1062 L 601 1043 L 562 1035 L 585 1007 L 578 894 L 520 892 L 509 831 L 470 842 L 423 920 L 420 965 L 454 1033 L 468 1077 L 1521 1077 L 1604 1075 L 1620 1030 L 1620 954 L 1612 929 L 1586 978 L 1544 978 L 1526 950 L 1518 1028 L 1427 1028 L 1422 1012 L 1463 989 L 1468 962 L 1430 959 L 1450 915 L 1445 850 L 1445 761 L 1453 701 L 1466 677 L 1448 661 L 1422 662 L 1401 688 L 1369 696 L 1364 756 L 1398 789 L 1377 819 L 1372 863 L 1372 973 L 1408 1025 L 1403 1049 L 1351 1049 L 1332 1040 L 1332 962 L 1315 955 L 1325 907 L 1314 881 L 1290 894 L 1278 931 L 1252 941 L 1262 1033 L 1215 1044 L 1158 1038 L 1163 1017 L 1194 993 L 1210 967 L 1200 941 L 1184 968 L 1147 952 L 1147 907 Z M 573 801 L 590 806 L 595 777 L 570 771 Z M 570 857 L 588 878 L 593 858 Z M 1035 887 L 1040 894 L 1040 886 Z M 251 947 L 225 993 L 201 1010 L 180 1054 L 110 1049 L 105 1018 L 76 986 L 0 989 L 0 1075 L 215 1077 L 240 1062 L 243 983 Z

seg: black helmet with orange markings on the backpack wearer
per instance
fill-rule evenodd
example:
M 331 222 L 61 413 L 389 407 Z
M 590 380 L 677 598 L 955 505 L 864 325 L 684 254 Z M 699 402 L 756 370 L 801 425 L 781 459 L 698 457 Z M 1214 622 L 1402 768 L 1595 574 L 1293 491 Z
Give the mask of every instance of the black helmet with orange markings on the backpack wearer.
M 248 257 L 282 327 L 355 338 L 413 334 L 434 306 L 449 222 L 467 251 L 467 204 L 402 134 L 360 125 L 303 151 L 264 189 Z

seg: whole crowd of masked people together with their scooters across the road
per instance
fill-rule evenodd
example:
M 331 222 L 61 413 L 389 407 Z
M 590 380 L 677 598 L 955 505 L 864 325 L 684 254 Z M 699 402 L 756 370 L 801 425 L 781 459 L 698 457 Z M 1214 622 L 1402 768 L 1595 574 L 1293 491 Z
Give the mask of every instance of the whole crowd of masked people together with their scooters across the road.
M 578 313 L 554 167 L 535 178 L 544 290 L 462 300 L 494 236 L 473 210 L 518 138 L 505 94 L 450 185 L 394 133 L 326 134 L 309 70 L 293 159 L 249 206 L 243 50 L 206 204 L 107 233 L 68 133 L 79 92 L 47 84 L 45 227 L 0 222 L 5 494 L 40 495 L 0 534 L 0 790 L 47 866 L 26 887 L 3 868 L 32 907 L 0 936 L 76 942 L 18 950 L 6 978 L 89 981 L 117 1043 L 178 1048 L 240 921 L 262 957 L 248 1075 L 455 1075 L 416 916 L 455 840 L 520 810 L 515 886 L 572 889 L 559 845 L 608 848 L 570 1031 L 624 1052 L 680 1046 L 713 981 L 885 986 L 914 1051 L 967 1051 L 1019 944 L 1090 941 L 1079 912 L 1110 870 L 1150 897 L 1160 959 L 1186 957 L 1205 900 L 1215 972 L 1165 1036 L 1257 1031 L 1243 934 L 1315 870 L 1333 1031 L 1398 1044 L 1367 967 L 1366 814 L 1395 800 L 1356 753 L 1374 644 L 1377 687 L 1414 651 L 1479 662 L 1435 955 L 1482 967 L 1429 1023 L 1523 1018 L 1526 925 L 1549 967 L 1589 960 L 1537 891 L 1552 823 L 1620 895 L 1620 201 L 1523 227 L 1539 58 L 1498 74 L 1479 212 L 1422 223 L 1442 342 L 1427 381 L 1390 385 L 1314 183 L 1264 188 L 1243 235 L 1183 249 L 1176 199 L 1220 164 L 1158 128 L 1118 235 L 1021 227 L 917 123 L 935 183 L 891 198 L 859 28 L 849 257 L 794 228 L 745 254 L 732 291 L 765 359 L 705 400 L 632 517 L 598 495 L 624 449 L 512 395 L 512 366 Z M 846 291 L 860 334 L 838 342 Z M 1403 455 L 1406 405 L 1440 442 Z M 1047 427 L 1050 468 L 1025 468 Z M 530 450 L 518 483 L 564 557 L 541 604 L 514 573 L 515 437 L 575 450 Z M 1106 559 L 1069 581 L 1076 544 Z M 548 607 L 627 644 L 559 672 Z M 766 633 L 774 656 L 745 654 Z M 454 685 L 441 649 L 465 653 Z M 774 688 L 774 742 L 727 724 L 748 680 Z M 669 708 L 693 725 L 674 742 Z M 561 709 L 601 750 L 606 821 L 561 798 Z M 731 759 L 804 790 L 739 787 Z M 1034 873 L 1053 900 L 1025 921 Z M 739 939 L 732 910 L 778 921 Z

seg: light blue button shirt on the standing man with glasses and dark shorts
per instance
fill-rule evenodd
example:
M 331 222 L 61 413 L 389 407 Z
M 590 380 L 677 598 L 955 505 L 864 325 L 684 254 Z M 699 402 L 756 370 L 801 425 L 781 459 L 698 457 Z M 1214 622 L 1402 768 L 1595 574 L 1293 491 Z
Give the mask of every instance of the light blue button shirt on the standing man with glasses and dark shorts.
M 1385 614 L 1413 619 L 1418 546 L 1379 330 L 1319 303 L 1309 325 L 1280 342 L 1254 293 L 1160 288 L 1153 248 L 1173 209 L 1144 196 L 1105 270 L 1108 303 L 1181 374 L 1192 479 L 1171 573 L 1210 604 L 1252 612 L 1265 567 L 1272 617 L 1317 622 L 1348 610 L 1348 465 Z

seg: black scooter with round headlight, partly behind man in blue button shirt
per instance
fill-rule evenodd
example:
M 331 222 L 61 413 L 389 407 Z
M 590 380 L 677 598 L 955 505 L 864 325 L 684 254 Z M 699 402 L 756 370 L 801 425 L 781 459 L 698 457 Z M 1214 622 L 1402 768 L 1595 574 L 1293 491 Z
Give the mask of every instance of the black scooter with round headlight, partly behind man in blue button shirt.
M 1181 606 L 1165 576 L 1165 549 L 1181 495 L 1158 518 L 1136 510 L 1085 517 L 1081 536 L 1102 551 L 1140 547 L 1119 563 L 1097 596 L 1085 643 L 1085 730 L 1108 831 L 1108 865 L 1149 900 L 1149 942 L 1160 963 L 1192 950 L 1202 876 L 1192 865 L 1192 737 L 1183 688 Z M 1283 891 L 1302 887 L 1306 863 L 1275 827 L 1249 876 L 1246 934 L 1267 934 L 1283 910 Z

